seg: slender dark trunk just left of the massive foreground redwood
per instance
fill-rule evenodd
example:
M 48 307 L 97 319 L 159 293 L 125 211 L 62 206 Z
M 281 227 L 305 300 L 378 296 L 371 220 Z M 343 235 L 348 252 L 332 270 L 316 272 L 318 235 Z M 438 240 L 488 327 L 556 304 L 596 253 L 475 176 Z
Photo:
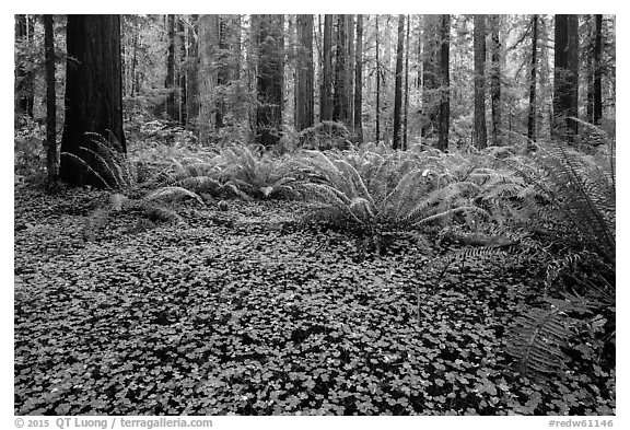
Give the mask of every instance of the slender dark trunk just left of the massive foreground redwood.
M 46 168 L 48 184 L 57 183 L 57 95 L 55 91 L 55 33 L 52 15 L 44 15 L 44 49 L 46 55 Z

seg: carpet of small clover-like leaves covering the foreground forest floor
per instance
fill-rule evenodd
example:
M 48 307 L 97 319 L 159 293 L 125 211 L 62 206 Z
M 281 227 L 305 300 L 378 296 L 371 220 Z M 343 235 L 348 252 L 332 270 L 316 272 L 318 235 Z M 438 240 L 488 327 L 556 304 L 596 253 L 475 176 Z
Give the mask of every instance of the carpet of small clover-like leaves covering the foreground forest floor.
M 505 327 L 540 291 L 515 266 L 435 283 L 411 236 L 362 255 L 289 201 L 86 232 L 104 196 L 16 186 L 15 414 L 615 414 L 614 370 L 512 370 Z

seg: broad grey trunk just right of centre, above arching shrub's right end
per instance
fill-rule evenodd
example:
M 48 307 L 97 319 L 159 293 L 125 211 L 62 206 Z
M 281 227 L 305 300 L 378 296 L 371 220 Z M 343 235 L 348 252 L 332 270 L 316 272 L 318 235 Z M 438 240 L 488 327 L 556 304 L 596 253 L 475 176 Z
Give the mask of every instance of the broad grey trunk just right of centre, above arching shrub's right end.
M 350 125 L 350 94 L 348 81 L 348 16 L 337 15 L 337 48 L 335 55 L 335 94 L 332 96 L 332 119 Z

